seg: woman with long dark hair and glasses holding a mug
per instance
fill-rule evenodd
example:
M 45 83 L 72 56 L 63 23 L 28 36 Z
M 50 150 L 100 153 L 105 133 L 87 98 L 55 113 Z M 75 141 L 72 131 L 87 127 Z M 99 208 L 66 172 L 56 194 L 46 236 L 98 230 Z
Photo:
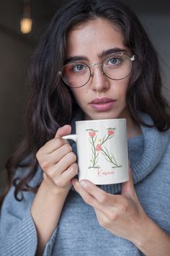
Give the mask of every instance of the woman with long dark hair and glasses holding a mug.
M 79 183 L 75 144 L 62 137 L 76 120 L 117 118 L 128 124 L 129 181 Z M 169 120 L 135 14 L 109 0 L 60 9 L 32 59 L 27 133 L 6 165 L 1 255 L 170 255 Z

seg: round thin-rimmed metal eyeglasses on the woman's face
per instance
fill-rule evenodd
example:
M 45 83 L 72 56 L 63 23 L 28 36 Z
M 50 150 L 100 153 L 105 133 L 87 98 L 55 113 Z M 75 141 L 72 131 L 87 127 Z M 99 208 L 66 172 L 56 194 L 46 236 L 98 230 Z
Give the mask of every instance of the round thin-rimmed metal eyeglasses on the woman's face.
M 130 74 L 135 55 L 129 56 L 125 53 L 112 54 L 101 63 L 84 64 L 82 62 L 70 62 L 63 66 L 58 72 L 63 82 L 72 88 L 80 88 L 89 82 L 92 73 L 91 67 L 100 66 L 102 74 L 112 80 L 122 80 Z

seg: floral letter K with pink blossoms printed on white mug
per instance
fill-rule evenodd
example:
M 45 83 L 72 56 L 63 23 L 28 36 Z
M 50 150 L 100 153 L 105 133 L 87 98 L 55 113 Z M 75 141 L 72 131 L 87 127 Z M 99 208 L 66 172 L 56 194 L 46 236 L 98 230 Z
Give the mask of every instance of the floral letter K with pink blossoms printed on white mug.
M 91 165 L 89 168 L 100 168 L 99 165 L 97 165 L 97 162 L 99 160 L 99 153 L 102 153 L 104 155 L 104 158 L 109 162 L 112 163 L 112 168 L 115 167 L 122 167 L 122 165 L 119 165 L 112 153 L 109 153 L 106 147 L 104 147 L 104 143 L 107 140 L 110 140 L 115 135 L 115 128 L 107 128 L 107 133 L 104 135 L 102 139 L 99 139 L 97 142 L 97 130 L 94 129 L 86 129 L 86 131 L 89 131 L 89 142 L 91 143 L 91 152 L 92 152 L 92 158 L 91 158 Z M 96 143 L 97 142 L 97 143 Z

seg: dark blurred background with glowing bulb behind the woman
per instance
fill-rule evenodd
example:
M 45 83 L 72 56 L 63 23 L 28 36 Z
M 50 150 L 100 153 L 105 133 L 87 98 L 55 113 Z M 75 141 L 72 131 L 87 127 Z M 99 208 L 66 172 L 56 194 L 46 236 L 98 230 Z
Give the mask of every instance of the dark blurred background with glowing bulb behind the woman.
M 170 103 L 170 1 L 123 1 L 138 14 L 158 51 L 164 95 Z M 24 132 L 30 56 L 56 9 L 64 2 L 0 0 L 0 192 L 5 185 L 6 160 Z

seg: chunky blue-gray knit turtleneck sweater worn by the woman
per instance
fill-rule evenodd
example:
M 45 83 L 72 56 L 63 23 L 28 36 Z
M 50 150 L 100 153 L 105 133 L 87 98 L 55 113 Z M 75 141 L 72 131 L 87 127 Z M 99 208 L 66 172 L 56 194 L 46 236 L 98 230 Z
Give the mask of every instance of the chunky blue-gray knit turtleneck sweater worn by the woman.
M 143 120 L 151 123 L 145 114 Z M 135 191 L 148 216 L 170 234 L 170 131 L 141 129 L 142 135 L 128 140 Z M 37 184 L 41 177 L 39 168 L 31 184 Z M 112 194 L 121 191 L 120 184 L 100 187 Z M 37 233 L 30 214 L 34 197 L 33 193 L 24 192 L 24 200 L 17 202 L 14 200 L 14 187 L 6 196 L 0 218 L 1 256 L 35 255 Z M 86 205 L 72 188 L 58 226 L 46 244 L 43 256 L 48 255 L 137 256 L 142 253 L 128 240 L 99 226 L 93 208 Z

